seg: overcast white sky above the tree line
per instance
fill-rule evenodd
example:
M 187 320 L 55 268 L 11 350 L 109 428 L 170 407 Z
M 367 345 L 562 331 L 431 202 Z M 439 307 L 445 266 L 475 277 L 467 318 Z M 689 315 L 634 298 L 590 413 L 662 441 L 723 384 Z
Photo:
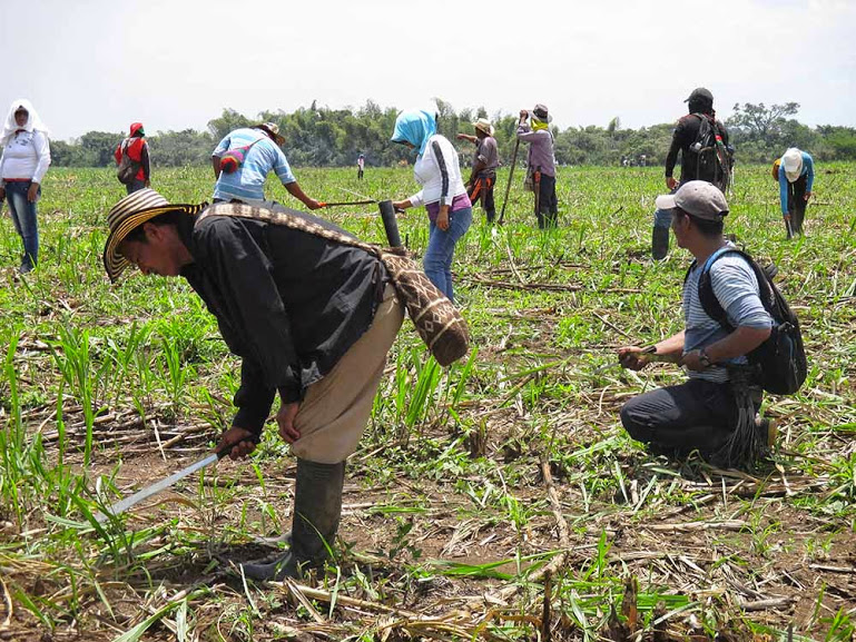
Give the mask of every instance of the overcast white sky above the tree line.
M 671 122 L 698 86 L 796 101 L 856 126 L 856 0 L 0 0 L 0 112 L 29 98 L 53 139 L 204 129 L 314 99 L 490 115 L 543 102 L 555 124 Z

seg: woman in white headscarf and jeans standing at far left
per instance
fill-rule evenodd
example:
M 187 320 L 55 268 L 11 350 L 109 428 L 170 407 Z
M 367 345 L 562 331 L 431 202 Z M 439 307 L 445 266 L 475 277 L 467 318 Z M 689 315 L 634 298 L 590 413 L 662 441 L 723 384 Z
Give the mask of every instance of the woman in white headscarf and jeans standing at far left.
M 39 263 L 39 224 L 36 203 L 41 195 L 41 180 L 50 166 L 48 129 L 29 100 L 18 99 L 0 135 L 3 155 L 0 157 L 0 203 L 9 201 L 14 229 L 23 241 L 21 273 Z

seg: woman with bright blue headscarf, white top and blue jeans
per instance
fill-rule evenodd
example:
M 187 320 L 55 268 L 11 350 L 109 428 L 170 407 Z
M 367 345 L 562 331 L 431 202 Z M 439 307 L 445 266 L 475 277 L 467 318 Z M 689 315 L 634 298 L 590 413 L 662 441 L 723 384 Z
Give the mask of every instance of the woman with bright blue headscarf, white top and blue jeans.
M 470 229 L 473 206 L 461 178 L 457 151 L 436 132 L 436 119 L 427 111 L 405 111 L 395 119 L 392 141 L 419 150 L 413 176 L 422 186 L 397 209 L 424 205 L 431 231 L 422 265 L 431 282 L 454 302 L 452 258 L 455 244 Z

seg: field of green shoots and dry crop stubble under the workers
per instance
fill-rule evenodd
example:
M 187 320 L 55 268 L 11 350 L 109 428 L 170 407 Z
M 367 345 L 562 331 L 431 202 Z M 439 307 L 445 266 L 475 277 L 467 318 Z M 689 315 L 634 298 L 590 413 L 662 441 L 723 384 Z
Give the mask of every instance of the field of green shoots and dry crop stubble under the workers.
M 648 258 L 661 169 L 562 169 L 555 231 L 533 229 L 519 185 L 504 227 L 476 210 L 454 265 L 471 358 L 439 368 L 405 320 L 348 464 L 334 561 L 269 585 L 234 562 L 274 553 L 291 520 L 294 458 L 270 426 L 250 460 L 94 523 L 216 442 L 238 362 L 180 279 L 109 285 L 114 171 L 51 170 L 39 270 L 17 275 L 19 239 L 0 227 L 0 640 L 778 640 L 791 623 L 796 640 L 849 640 L 854 170 L 820 167 L 807 235 L 785 241 L 768 169 L 738 169 L 727 231 L 779 266 L 810 360 L 800 394 L 765 402 L 781 418 L 766 468 L 670 462 L 623 433 L 621 403 L 682 373 L 596 371 L 681 327 L 689 255 Z M 409 169 L 355 174 L 297 171 L 324 200 L 413 190 Z M 201 168 L 155 179 L 176 203 L 211 189 Z M 321 214 L 383 238 L 371 207 Z M 400 226 L 421 256 L 424 213 Z

